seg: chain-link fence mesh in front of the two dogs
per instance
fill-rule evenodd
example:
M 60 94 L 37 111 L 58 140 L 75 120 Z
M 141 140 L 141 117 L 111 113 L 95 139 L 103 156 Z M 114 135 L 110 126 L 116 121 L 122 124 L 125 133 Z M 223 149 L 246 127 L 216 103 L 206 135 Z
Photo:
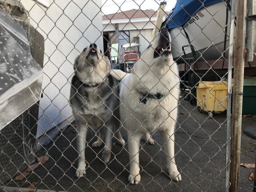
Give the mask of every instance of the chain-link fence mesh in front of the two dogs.
M 131 2 L 133 7 L 123 11 L 122 8 Z M 152 53 L 156 51 L 156 54 L 166 52 L 169 49 L 168 35 L 159 40 L 168 44 L 163 51 L 154 47 L 151 36 L 155 20 L 159 19 L 157 11 L 142 7 L 148 3 L 159 7 L 160 2 L 131 2 L 0 1 L 2 18 L 8 15 L 26 31 L 29 52 L 43 68 L 41 99 L 0 130 L 1 191 L 228 191 L 231 118 L 231 78 L 228 74 L 233 76 L 228 59 L 229 48 L 233 46 L 233 42 L 229 43 L 233 19 L 229 1 L 203 6 L 201 1 L 191 1 L 195 7 L 201 4 L 193 13 L 191 5 L 185 6 L 184 2 L 183 7 L 177 2 L 173 12 L 165 9 L 162 27 L 167 27 L 170 33 L 171 53 L 179 74 L 175 76 L 174 62 L 168 63 L 159 57 L 168 67 L 163 76 L 157 77 L 158 82 L 152 80 L 156 75 L 154 55 L 143 57 L 143 52 L 150 49 L 154 49 Z M 119 7 L 118 12 L 104 14 L 103 10 L 111 9 L 108 8 L 110 5 Z M 185 14 L 188 19 L 179 25 L 178 14 Z M 16 29 L 2 30 L 13 31 L 14 34 L 19 32 Z M 9 47 L 17 50 L 21 44 Z M 88 52 L 95 54 L 98 61 L 93 63 Z M 4 52 L 4 46 L 0 53 L 11 65 L 22 65 L 12 60 L 12 54 L 8 56 L 8 52 Z M 133 67 L 137 60 L 148 64 L 145 65 L 146 71 L 139 65 Z M 128 74 L 117 82 L 115 78 L 118 77 L 112 69 L 109 74 L 109 64 L 112 69 Z M 249 64 L 254 66 L 253 62 Z M 14 80 L 11 81 L 15 82 L 11 73 L 6 73 L 8 68 L 3 66 L 0 65 L 0 71 L 7 74 L 8 80 L 12 77 Z M 26 66 L 24 64 L 24 68 Z M 89 72 L 85 75 L 86 67 Z M 166 85 L 164 75 L 169 72 L 172 74 L 170 85 Z M 145 95 L 141 93 L 138 97 L 133 92 L 138 85 L 131 87 L 125 81 L 130 74 L 139 79 L 138 84 L 144 83 L 140 86 L 144 87 L 141 92 L 148 91 Z M 147 74 L 153 76 L 146 81 L 152 80 L 150 87 L 145 88 L 143 79 Z M 159 84 L 162 90 L 157 89 Z M 128 96 L 123 95 L 123 99 L 119 95 L 119 89 L 122 93 L 121 85 L 123 89 L 129 88 Z M 85 91 L 84 86 L 91 90 Z M 176 87 L 180 89 L 177 98 L 172 95 Z M 163 97 L 172 95 L 172 100 L 161 103 L 161 92 L 159 96 L 155 89 L 167 89 L 168 94 Z M 126 101 L 129 95 L 134 98 L 130 103 Z M 145 106 L 151 100 L 159 102 L 149 109 Z M 131 103 L 136 104 L 134 109 L 125 106 Z M 170 109 L 170 105 L 174 107 Z M 163 122 L 158 122 L 163 118 L 157 117 L 160 114 L 152 116 L 157 106 L 167 114 Z M 142 111 L 136 111 L 141 108 Z M 153 122 L 147 122 L 147 118 L 140 122 L 140 118 L 134 116 L 135 112 L 146 115 Z M 175 124 L 175 140 L 168 128 L 165 131 L 168 140 L 164 142 L 161 140 L 162 130 L 167 122 L 172 122 L 170 118 Z M 156 122 L 158 126 L 147 129 Z M 136 130 L 127 130 L 134 125 L 138 125 Z M 87 136 L 83 136 L 83 126 L 88 128 Z M 131 143 L 137 132 L 142 135 L 141 130 L 146 131 L 145 138 L 139 145 Z M 173 155 L 164 150 L 169 141 L 174 145 Z M 129 164 L 134 163 L 137 154 L 132 155 L 128 149 L 129 142 L 130 148 L 133 145 L 139 147 L 140 161 L 136 166 L 140 169 L 140 180 L 137 178 L 137 185 L 128 180 L 129 174 L 133 174 Z M 129 159 L 129 154 L 132 159 Z M 165 158 L 168 155 L 170 158 Z M 168 168 L 173 164 L 170 162 L 177 166 L 182 180 L 177 175 L 170 178 Z

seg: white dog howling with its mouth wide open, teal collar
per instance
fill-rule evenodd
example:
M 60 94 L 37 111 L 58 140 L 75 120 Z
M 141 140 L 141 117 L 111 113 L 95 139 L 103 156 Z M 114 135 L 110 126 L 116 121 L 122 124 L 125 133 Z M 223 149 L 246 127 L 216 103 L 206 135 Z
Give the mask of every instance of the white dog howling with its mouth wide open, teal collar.
M 154 42 L 134 64 L 132 73 L 115 71 L 123 77 L 120 85 L 120 115 L 123 127 L 128 130 L 128 179 L 132 184 L 140 182 L 140 139 L 145 133 L 152 133 L 156 129 L 160 131 L 169 176 L 175 181 L 181 181 L 174 160 L 179 76 L 171 55 L 170 42 L 168 30 L 161 28 Z

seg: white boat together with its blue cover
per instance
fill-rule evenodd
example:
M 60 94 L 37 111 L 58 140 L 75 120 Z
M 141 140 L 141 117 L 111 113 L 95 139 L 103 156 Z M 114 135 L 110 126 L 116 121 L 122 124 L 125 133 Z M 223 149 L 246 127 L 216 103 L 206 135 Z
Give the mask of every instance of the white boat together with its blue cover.
M 229 0 L 177 0 L 162 23 L 171 34 L 174 60 L 227 58 L 230 9 Z

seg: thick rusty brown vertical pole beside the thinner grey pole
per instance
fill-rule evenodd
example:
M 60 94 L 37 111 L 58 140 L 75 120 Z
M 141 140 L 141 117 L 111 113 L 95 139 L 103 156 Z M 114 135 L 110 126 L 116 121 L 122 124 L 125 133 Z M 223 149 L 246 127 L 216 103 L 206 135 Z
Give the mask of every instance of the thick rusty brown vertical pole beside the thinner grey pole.
M 230 192 L 238 192 L 241 151 L 241 124 L 244 84 L 247 0 L 237 0 L 234 87 L 231 127 Z

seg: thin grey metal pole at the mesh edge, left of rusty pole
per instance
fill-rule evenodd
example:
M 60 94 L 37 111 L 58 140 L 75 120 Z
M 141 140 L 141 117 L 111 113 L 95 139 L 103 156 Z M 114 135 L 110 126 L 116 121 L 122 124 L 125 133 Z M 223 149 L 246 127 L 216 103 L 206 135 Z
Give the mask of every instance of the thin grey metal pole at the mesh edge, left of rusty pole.
M 235 29 L 236 1 L 231 1 L 230 32 L 229 32 L 229 66 L 228 66 L 228 97 L 227 97 L 227 144 L 226 144 L 226 178 L 225 192 L 229 191 L 229 171 L 230 171 L 230 140 L 231 140 L 231 94 L 232 94 L 232 68 L 233 68 L 233 46 Z

